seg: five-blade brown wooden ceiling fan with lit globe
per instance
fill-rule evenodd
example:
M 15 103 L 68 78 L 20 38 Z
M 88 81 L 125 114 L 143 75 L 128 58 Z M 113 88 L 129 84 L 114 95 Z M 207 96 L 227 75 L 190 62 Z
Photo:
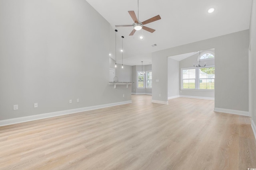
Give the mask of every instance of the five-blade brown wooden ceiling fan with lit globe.
M 154 31 L 156 31 L 155 29 L 146 27 L 144 25 L 146 25 L 147 23 L 151 23 L 151 22 L 161 19 L 160 15 L 157 15 L 157 16 L 154 16 L 146 21 L 141 22 L 139 19 L 137 19 L 134 11 L 128 11 L 128 13 L 132 17 L 132 20 L 134 21 L 134 23 L 132 25 L 116 25 L 116 27 L 132 27 L 133 26 L 133 30 L 129 35 L 134 35 L 135 31 L 138 31 L 140 29 L 144 29 L 148 32 L 153 33 Z M 138 18 L 139 18 L 139 0 L 138 0 Z

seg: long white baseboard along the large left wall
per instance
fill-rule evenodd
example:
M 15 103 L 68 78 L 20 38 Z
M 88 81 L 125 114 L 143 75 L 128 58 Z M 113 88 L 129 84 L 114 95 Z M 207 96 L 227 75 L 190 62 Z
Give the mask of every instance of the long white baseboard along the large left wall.
M 43 113 L 43 114 L 39 114 L 39 115 L 17 117 L 17 118 L 14 118 L 14 119 L 1 120 L 0 121 L 0 126 L 12 125 L 12 124 L 22 123 L 22 122 L 26 122 L 26 121 L 45 119 L 45 118 L 48 118 L 48 117 L 67 115 L 67 114 L 78 113 L 78 112 L 82 112 L 82 111 L 89 111 L 89 110 L 101 109 L 101 108 L 118 106 L 118 105 L 123 105 L 123 104 L 130 104 L 130 103 L 132 103 L 132 100 L 128 100 L 128 101 L 124 101 L 124 102 L 111 103 L 111 104 L 103 104 L 103 105 L 98 105 L 98 106 L 90 106 L 90 107 L 82 107 L 82 108 L 77 108 L 77 109 L 55 111 L 55 112 Z

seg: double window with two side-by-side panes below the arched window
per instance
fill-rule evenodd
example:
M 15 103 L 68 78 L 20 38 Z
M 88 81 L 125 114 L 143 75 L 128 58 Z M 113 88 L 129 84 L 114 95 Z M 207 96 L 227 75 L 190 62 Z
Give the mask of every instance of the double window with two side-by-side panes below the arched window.
M 182 68 L 181 71 L 181 89 L 214 90 L 214 66 Z

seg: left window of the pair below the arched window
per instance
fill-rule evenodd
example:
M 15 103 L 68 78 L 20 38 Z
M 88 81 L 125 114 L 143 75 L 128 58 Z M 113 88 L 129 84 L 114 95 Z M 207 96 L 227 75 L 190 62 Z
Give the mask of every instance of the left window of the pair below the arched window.
M 183 89 L 195 89 L 196 82 L 196 69 L 184 69 L 182 70 L 182 88 Z

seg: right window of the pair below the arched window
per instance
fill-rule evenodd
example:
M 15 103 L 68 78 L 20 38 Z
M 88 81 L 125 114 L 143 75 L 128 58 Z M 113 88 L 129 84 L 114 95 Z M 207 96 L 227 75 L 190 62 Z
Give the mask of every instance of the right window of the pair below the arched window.
M 199 88 L 214 89 L 215 67 L 199 69 Z

